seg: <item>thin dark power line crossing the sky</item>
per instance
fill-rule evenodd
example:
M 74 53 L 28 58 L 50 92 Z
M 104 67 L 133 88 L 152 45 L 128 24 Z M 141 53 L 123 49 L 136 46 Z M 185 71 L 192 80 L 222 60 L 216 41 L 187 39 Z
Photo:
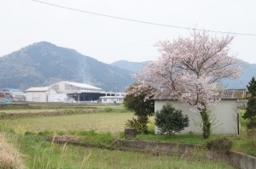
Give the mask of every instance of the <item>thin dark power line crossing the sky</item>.
M 99 13 L 94 13 L 94 12 L 90 12 L 90 11 L 86 11 L 86 10 L 81 10 L 81 9 L 78 9 L 78 8 L 64 7 L 64 6 L 61 6 L 61 5 L 54 4 L 54 3 L 45 3 L 45 2 L 42 2 L 42 1 L 38 1 L 38 0 L 31 0 L 31 1 L 33 1 L 35 3 L 43 3 L 43 4 L 54 6 L 54 7 L 57 7 L 57 8 L 65 8 L 65 9 L 68 9 L 68 10 L 73 10 L 73 11 L 82 12 L 82 13 L 86 13 L 86 14 L 94 14 L 94 15 L 108 17 L 108 18 L 112 18 L 112 19 L 126 20 L 126 21 L 141 23 L 141 24 L 159 25 L 159 26 L 166 26 L 166 27 L 172 27 L 172 28 L 184 29 L 184 30 L 209 31 L 209 32 L 213 32 L 213 33 L 223 33 L 223 34 L 231 34 L 231 35 L 242 35 L 242 36 L 256 37 L 256 34 L 251 34 L 251 33 L 240 33 L 240 32 L 231 32 L 231 31 L 213 31 L 213 30 L 195 29 L 195 28 L 190 28 L 190 27 L 177 26 L 177 25 L 159 24 L 159 23 L 148 22 L 148 21 L 143 21 L 143 20 L 132 20 L 132 19 L 122 18 L 122 17 L 119 17 L 119 16 L 113 16 L 113 15 L 108 15 L 108 14 L 99 14 Z

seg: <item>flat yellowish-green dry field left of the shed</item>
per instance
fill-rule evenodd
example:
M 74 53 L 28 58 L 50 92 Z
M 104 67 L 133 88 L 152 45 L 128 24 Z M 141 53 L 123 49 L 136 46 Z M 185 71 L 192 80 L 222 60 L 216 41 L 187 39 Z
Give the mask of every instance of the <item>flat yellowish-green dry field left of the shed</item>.
M 122 132 L 132 113 L 102 112 L 82 115 L 32 116 L 1 120 L 20 132 L 95 130 L 96 132 Z

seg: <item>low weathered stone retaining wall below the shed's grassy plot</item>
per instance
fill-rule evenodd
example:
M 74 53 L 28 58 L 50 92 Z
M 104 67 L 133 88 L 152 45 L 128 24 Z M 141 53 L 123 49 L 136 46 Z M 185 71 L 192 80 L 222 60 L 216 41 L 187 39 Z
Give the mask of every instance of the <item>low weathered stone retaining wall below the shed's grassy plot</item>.
M 143 149 L 157 154 L 195 155 L 201 154 L 204 148 L 191 144 L 171 144 L 140 140 L 119 140 L 119 144 L 130 149 Z M 204 153 L 204 152 L 203 152 Z M 225 161 L 241 169 L 256 169 L 256 157 L 230 151 L 229 155 L 219 155 L 218 152 L 206 151 L 206 157 L 211 160 Z

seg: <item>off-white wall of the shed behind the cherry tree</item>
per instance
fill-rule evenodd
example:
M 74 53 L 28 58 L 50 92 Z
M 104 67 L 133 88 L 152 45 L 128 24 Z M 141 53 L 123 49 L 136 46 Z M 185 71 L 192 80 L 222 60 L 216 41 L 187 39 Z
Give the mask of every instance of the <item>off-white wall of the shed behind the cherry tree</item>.
M 194 132 L 201 133 L 201 115 L 191 112 L 191 106 L 185 103 L 171 100 L 155 100 L 154 112 L 162 109 L 166 103 L 172 104 L 175 109 L 183 110 L 184 115 L 189 116 L 189 127 L 186 127 L 182 133 Z M 237 104 L 236 99 L 221 100 L 211 111 L 212 133 L 236 135 L 237 127 Z M 155 127 L 155 133 L 160 133 L 158 127 Z

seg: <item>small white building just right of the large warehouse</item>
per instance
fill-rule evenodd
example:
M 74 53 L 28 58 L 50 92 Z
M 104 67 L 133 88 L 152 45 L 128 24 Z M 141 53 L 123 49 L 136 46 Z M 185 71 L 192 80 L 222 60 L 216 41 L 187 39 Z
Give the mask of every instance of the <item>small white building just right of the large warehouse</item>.
M 124 97 L 125 93 L 106 93 L 105 96 L 100 97 L 100 100 L 102 104 L 121 104 Z

